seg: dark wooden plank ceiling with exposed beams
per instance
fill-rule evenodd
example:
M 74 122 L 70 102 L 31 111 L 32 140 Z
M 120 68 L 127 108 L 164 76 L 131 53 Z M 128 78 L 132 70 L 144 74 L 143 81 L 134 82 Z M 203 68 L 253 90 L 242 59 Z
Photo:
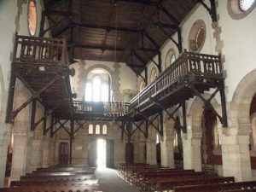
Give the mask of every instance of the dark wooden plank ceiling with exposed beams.
M 198 0 L 44 0 L 53 38 L 71 60 L 125 62 L 143 71 Z

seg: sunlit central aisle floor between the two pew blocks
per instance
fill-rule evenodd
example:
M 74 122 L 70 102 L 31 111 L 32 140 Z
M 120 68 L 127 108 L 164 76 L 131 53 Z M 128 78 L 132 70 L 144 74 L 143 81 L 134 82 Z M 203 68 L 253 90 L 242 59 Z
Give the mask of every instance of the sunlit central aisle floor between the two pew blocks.
M 100 189 L 103 192 L 139 192 L 135 187 L 119 177 L 116 170 L 104 168 L 97 169 L 95 173 L 96 178 L 99 179 Z

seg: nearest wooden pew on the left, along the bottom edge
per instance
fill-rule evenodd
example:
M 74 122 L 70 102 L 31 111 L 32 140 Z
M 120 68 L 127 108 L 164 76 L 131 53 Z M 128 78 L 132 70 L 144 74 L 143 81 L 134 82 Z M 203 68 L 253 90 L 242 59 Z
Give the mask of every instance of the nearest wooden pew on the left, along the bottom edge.
M 96 192 L 99 185 L 87 186 L 20 186 L 15 188 L 1 188 L 0 192 Z

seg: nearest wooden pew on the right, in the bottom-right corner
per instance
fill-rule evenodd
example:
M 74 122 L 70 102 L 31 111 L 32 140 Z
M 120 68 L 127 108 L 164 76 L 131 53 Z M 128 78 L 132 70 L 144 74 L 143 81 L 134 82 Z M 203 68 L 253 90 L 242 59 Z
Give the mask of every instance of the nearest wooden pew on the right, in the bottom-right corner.
M 175 187 L 174 192 L 220 192 L 233 189 L 256 189 L 256 181 L 188 185 Z

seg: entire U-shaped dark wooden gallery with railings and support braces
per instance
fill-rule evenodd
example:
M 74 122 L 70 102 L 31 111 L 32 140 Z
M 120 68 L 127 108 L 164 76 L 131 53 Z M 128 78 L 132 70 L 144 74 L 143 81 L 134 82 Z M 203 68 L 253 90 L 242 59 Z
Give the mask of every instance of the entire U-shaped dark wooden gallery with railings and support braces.
M 56 119 L 105 119 L 113 120 L 108 113 L 121 114 L 118 120 L 133 119 L 139 121 L 166 111 L 177 105 L 185 109 L 185 101 L 200 96 L 206 105 L 219 92 L 224 105 L 224 76 L 220 55 L 205 55 L 187 52 L 180 55 L 170 67 L 148 86 L 139 92 L 131 102 L 82 102 L 73 101 L 69 75 L 74 70 L 69 68 L 67 44 L 64 39 L 36 38 L 16 36 L 12 78 L 9 89 L 7 122 L 12 122 L 17 113 L 32 102 L 32 119 L 36 102 L 44 105 L 45 115 L 32 124 L 35 128 L 50 114 Z M 13 109 L 15 79 L 18 78 L 31 91 L 32 96 Z M 210 99 L 201 96 L 205 91 L 212 91 Z M 225 106 L 223 117 L 218 117 L 225 125 Z

